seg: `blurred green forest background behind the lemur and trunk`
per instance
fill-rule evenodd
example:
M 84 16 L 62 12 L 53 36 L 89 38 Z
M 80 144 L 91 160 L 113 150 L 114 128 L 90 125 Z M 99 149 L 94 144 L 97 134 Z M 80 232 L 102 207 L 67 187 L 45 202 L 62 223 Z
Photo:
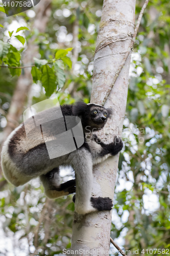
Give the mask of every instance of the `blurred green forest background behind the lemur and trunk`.
M 31 104 L 51 95 L 57 95 L 60 104 L 80 99 L 89 102 L 102 4 L 101 0 L 41 0 L 35 8 L 18 15 L 6 17 L 0 12 L 4 26 L 0 34 L 1 65 L 30 66 L 34 65 L 34 56 L 43 59 L 36 60 L 34 82 L 31 68 L 0 70 L 1 144 L 22 122 L 22 113 Z M 136 1 L 136 18 L 142 5 L 143 1 Z M 11 37 L 19 27 L 29 29 L 18 32 L 25 38 L 18 37 L 22 43 Z M 132 53 L 124 148 L 112 213 L 111 238 L 131 254 L 133 249 L 139 249 L 138 255 L 144 255 L 146 249 L 147 255 L 154 254 L 154 248 L 164 249 L 162 254 L 170 250 L 169 38 L 170 3 L 152 0 L 142 17 Z M 3 42 L 9 39 L 13 48 L 4 54 Z M 67 48 L 74 49 L 68 49 L 68 58 L 58 59 L 54 65 L 56 51 Z M 67 52 L 63 51 L 63 56 Z M 51 89 L 47 88 L 45 70 L 44 79 L 38 73 L 47 61 L 53 62 L 48 70 L 55 84 Z M 64 181 L 73 175 L 70 169 L 63 172 Z M 62 250 L 70 248 L 72 196 L 46 199 L 38 179 L 14 187 L 1 176 L 0 186 L 1 256 L 63 255 Z

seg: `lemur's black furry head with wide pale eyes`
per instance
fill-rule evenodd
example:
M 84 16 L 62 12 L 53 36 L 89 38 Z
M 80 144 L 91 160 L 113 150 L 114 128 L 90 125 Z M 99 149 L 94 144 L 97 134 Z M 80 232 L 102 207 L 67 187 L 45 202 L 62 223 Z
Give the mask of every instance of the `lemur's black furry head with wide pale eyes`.
M 83 130 L 88 132 L 102 129 L 107 119 L 111 118 L 112 110 L 99 104 L 79 101 L 72 107 L 72 113 L 81 118 Z

